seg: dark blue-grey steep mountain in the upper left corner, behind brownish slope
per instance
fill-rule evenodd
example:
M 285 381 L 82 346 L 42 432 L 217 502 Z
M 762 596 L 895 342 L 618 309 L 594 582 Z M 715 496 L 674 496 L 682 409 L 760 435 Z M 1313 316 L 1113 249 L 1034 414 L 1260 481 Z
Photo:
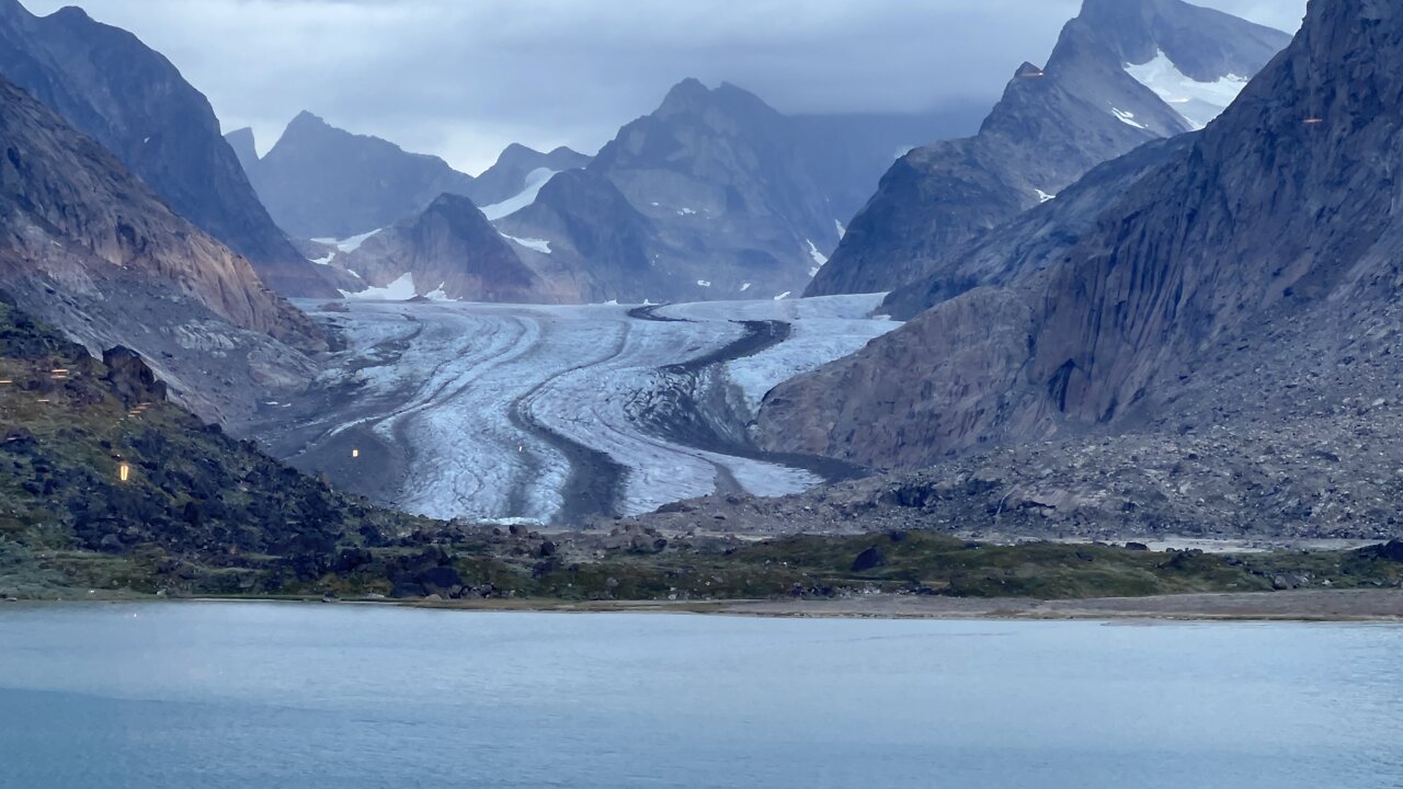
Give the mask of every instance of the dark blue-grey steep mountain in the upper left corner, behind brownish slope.
M 0 0 L 0 74 L 111 150 L 177 213 L 278 292 L 334 291 L 292 248 L 219 135 L 209 101 L 166 58 L 79 8 L 35 17 Z

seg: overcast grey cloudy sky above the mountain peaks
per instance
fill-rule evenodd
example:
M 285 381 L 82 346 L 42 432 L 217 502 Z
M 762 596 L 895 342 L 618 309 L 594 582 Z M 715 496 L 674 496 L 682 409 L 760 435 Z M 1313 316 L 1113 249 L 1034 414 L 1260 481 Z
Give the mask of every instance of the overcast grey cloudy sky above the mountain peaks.
M 1295 32 L 1305 0 L 1197 0 Z M 22 0 L 48 14 L 74 0 Z M 267 150 L 302 110 L 478 173 L 593 153 L 683 77 L 786 112 L 991 105 L 1080 0 L 77 0 L 163 52 Z

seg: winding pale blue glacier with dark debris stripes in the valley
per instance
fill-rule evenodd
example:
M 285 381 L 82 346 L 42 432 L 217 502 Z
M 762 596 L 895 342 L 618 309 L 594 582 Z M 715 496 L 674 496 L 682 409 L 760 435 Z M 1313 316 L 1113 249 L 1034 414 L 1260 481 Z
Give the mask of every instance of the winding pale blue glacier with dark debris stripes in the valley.
M 651 428 L 679 385 L 664 368 L 716 358 L 753 410 L 774 385 L 895 329 L 866 317 L 880 302 L 675 305 L 651 319 L 617 305 L 306 303 L 345 350 L 303 403 L 267 409 L 258 432 L 299 468 L 439 518 L 574 522 L 714 491 L 797 493 L 822 479 Z M 746 337 L 739 321 L 790 330 L 727 359 Z

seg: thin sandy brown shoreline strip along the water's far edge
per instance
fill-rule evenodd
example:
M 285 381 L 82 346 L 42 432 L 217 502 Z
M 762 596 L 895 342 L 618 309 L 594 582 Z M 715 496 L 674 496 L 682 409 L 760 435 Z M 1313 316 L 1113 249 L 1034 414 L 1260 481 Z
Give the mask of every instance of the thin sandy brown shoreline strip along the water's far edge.
M 888 619 L 888 621 L 1083 621 L 1083 622 L 1298 622 L 1403 625 L 1400 590 L 1312 590 L 1281 592 L 1183 594 L 1143 598 L 1054 599 L 953 598 L 915 595 L 861 595 L 840 599 L 735 599 L 735 601 L 551 601 L 551 599 L 359 599 L 278 597 L 152 595 L 74 597 L 58 601 L 0 602 L 7 608 L 83 602 L 247 602 L 375 605 L 473 614 L 668 614 L 697 616 L 746 616 L 759 619 Z

